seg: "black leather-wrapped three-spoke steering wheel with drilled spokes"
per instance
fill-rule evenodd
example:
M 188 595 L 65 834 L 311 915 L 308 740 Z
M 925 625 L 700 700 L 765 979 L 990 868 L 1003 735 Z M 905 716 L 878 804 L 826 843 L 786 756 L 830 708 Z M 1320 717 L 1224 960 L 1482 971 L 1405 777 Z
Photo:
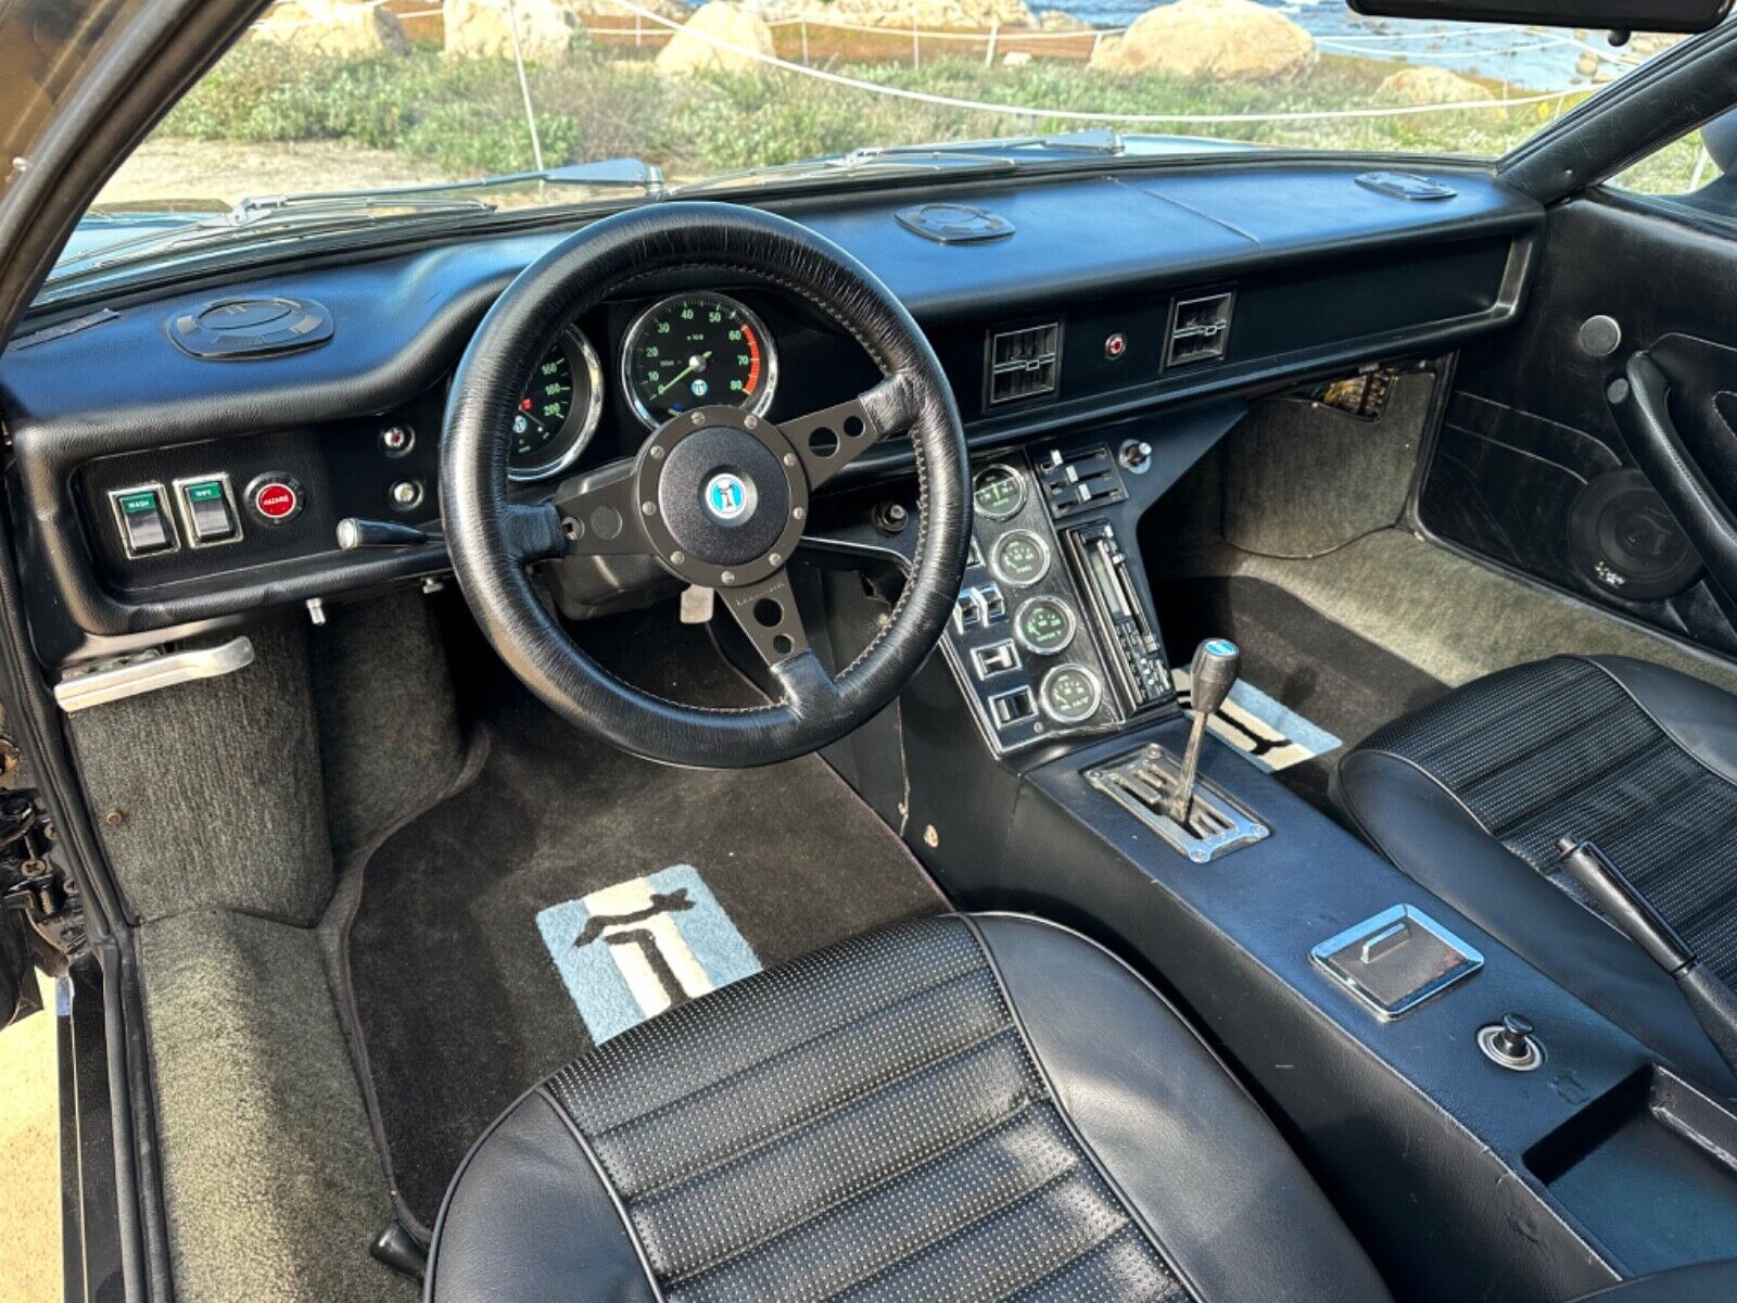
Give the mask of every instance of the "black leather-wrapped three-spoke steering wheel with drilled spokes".
M 742 273 L 804 295 L 848 328 L 882 380 L 773 424 L 731 407 L 665 422 L 637 457 L 565 481 L 551 502 L 507 497 L 512 413 L 556 330 L 611 290 L 670 268 Z M 835 678 L 802 634 L 785 565 L 809 499 L 879 440 L 917 453 L 912 573 L 875 639 Z M 507 667 L 582 730 L 646 759 L 742 768 L 816 751 L 867 723 L 940 639 L 964 579 L 971 473 L 952 389 L 917 323 L 862 262 L 796 222 L 730 203 L 658 203 L 587 226 L 505 288 L 459 363 L 441 443 L 441 519 L 459 587 Z M 587 657 L 528 566 L 651 556 L 717 592 L 764 657 L 780 700 L 745 711 L 641 691 Z

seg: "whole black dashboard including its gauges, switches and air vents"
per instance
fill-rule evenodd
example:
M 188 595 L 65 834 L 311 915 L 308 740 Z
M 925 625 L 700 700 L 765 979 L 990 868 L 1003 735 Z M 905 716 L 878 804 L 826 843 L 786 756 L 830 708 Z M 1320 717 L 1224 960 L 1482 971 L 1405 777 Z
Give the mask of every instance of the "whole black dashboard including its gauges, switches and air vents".
M 1046 440 L 1089 441 L 1136 415 L 1152 417 L 1162 457 L 1166 412 L 1445 351 L 1515 316 L 1536 203 L 1480 169 L 1431 169 L 1447 189 L 1433 202 L 1362 184 L 1365 172 L 1216 160 L 778 207 L 888 283 L 935 346 L 973 450 L 1014 450 L 1002 460 L 1023 467 Z M 924 205 L 992 212 L 1002 235 L 926 238 L 900 221 Z M 459 358 L 495 295 L 563 235 L 304 259 L 28 320 L 0 354 L 0 417 L 42 660 L 443 573 L 439 429 Z M 535 499 L 632 457 L 686 407 L 780 420 L 877 377 L 855 339 L 778 285 L 728 268 L 646 274 L 551 337 L 502 431 L 509 476 Z M 910 464 L 893 441 L 837 486 Z M 344 519 L 410 526 L 410 542 L 344 549 Z

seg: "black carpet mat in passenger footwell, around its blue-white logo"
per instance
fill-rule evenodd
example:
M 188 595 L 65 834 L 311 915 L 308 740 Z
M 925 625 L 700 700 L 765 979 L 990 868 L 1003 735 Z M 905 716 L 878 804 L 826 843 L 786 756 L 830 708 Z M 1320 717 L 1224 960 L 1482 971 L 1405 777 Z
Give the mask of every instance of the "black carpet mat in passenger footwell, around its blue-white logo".
M 1186 664 L 1202 638 L 1242 648 L 1242 678 L 1344 745 L 1275 777 L 1327 810 L 1327 778 L 1348 747 L 1447 691 L 1343 624 L 1259 579 L 1188 579 L 1157 591 L 1159 625 L 1171 657 Z

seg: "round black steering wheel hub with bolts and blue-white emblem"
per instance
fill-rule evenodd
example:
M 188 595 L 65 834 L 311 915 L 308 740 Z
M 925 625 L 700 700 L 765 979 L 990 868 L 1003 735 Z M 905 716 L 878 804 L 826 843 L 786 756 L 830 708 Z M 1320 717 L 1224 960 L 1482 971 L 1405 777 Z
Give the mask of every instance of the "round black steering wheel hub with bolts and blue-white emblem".
M 756 433 L 707 424 L 684 433 L 662 455 L 657 469 L 662 530 L 653 533 L 669 533 L 670 559 L 681 556 L 677 570 L 742 570 L 778 551 L 797 504 L 792 480 L 764 434 L 771 434 L 764 424 Z

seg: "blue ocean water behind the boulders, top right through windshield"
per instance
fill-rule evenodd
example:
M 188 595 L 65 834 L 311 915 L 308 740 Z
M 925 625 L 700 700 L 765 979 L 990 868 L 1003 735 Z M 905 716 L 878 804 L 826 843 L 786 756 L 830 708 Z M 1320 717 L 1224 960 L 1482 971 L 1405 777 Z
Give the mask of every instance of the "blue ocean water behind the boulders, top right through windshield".
M 1508 28 L 1473 23 L 1426 23 L 1417 19 L 1370 19 L 1353 14 L 1344 0 L 1259 0 L 1299 23 L 1315 36 L 1324 54 L 1362 54 L 1433 64 L 1456 73 L 1494 76 L 1527 90 L 1584 87 L 1577 73 L 1588 47 L 1615 57 L 1603 33 L 1577 38 L 1560 28 Z M 1152 3 L 1141 0 L 1035 0 L 1032 9 L 1065 9 L 1100 28 L 1133 23 Z

